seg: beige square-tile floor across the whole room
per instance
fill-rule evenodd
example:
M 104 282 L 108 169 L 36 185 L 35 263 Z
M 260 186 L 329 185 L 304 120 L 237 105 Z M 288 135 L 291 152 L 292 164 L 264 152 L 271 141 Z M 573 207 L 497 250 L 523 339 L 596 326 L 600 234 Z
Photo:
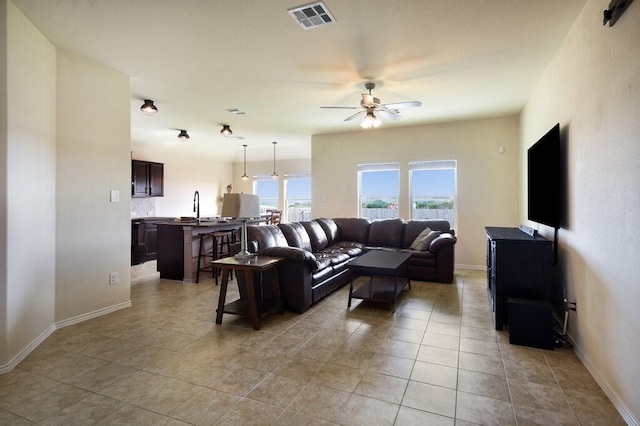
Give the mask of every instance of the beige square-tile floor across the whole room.
M 0 424 L 625 424 L 571 349 L 496 332 L 485 287 L 479 271 L 413 282 L 393 315 L 347 309 L 345 286 L 254 331 L 215 324 L 212 279 L 160 280 L 147 262 L 132 308 L 57 330 L 0 376 Z

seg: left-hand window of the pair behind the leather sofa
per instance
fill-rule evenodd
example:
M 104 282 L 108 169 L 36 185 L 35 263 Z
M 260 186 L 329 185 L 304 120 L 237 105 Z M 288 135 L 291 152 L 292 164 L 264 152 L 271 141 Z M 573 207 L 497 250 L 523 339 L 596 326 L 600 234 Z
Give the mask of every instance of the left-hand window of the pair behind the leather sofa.
M 358 165 L 360 217 L 398 217 L 400 170 L 398 163 Z

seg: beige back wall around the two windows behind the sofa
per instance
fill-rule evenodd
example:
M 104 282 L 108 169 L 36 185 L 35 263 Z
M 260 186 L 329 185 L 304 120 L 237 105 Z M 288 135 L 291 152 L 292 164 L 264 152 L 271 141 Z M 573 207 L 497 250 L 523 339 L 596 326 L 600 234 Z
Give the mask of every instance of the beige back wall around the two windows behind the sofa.
M 518 140 L 515 115 L 314 136 L 313 216 L 357 216 L 358 163 L 398 162 L 400 216 L 408 219 L 408 163 L 456 160 L 456 264 L 484 268 L 484 227 L 518 226 Z

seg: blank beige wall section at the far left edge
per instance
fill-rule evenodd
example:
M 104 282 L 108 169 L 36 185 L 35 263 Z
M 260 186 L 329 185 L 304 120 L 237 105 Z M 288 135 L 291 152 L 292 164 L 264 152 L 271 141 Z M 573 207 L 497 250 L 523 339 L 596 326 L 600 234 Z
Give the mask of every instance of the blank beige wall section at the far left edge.
M 7 48 L 0 165 L 0 251 L 6 261 L 0 366 L 5 366 L 44 338 L 54 321 L 56 56 L 11 2 L 0 2 L 0 9 Z

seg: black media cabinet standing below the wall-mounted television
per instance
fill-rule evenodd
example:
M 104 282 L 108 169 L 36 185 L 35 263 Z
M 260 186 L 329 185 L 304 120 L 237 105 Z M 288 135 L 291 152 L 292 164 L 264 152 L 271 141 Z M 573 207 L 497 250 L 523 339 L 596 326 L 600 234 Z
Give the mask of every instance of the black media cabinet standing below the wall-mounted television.
M 551 241 L 518 228 L 486 227 L 487 291 L 495 328 L 508 323 L 507 298 L 551 301 Z

